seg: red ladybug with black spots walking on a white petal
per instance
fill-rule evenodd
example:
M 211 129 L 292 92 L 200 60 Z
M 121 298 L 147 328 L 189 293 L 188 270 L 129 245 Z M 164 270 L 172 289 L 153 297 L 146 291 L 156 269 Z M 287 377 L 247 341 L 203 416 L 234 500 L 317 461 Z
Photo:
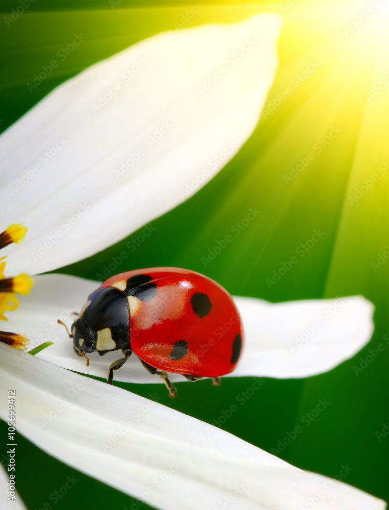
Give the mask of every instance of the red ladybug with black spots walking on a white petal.
M 228 326 L 227 326 L 228 324 Z M 88 297 L 71 326 L 79 356 L 123 352 L 107 382 L 134 352 L 176 395 L 166 372 L 220 384 L 242 351 L 242 325 L 231 296 L 211 278 L 187 269 L 153 267 L 111 276 Z

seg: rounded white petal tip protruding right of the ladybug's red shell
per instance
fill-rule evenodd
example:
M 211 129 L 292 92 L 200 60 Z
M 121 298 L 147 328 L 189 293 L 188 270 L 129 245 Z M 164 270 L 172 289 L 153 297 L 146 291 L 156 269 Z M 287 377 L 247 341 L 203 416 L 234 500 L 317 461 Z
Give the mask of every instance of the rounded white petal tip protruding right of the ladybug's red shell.
M 236 297 L 246 348 L 230 375 L 308 377 L 351 358 L 370 340 L 373 304 L 362 296 L 269 303 Z

